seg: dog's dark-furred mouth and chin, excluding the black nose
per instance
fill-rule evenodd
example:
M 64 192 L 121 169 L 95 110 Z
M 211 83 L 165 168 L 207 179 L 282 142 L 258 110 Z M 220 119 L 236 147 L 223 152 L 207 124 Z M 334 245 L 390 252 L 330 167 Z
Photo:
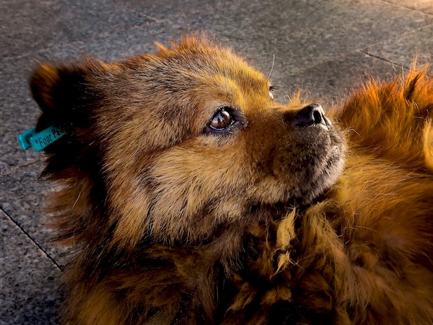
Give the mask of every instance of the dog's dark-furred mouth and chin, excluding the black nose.
M 277 139 L 279 147 L 267 151 L 265 164 L 260 165 L 266 176 L 256 193 L 263 203 L 309 205 L 342 174 L 345 146 L 337 125 L 326 118 L 320 125 L 296 127 L 291 133 L 284 146 Z

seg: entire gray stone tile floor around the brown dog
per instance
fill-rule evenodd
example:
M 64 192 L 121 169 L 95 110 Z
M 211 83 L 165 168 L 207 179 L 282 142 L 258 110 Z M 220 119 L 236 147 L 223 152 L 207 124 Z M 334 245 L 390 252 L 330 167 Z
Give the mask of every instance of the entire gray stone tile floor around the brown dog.
M 433 55 L 430 0 L 0 0 L 0 324 L 55 324 L 63 250 L 42 212 L 42 154 L 16 137 L 38 109 L 37 61 L 84 53 L 111 60 L 204 31 L 268 73 L 288 100 L 304 89 L 339 103 L 367 76 L 401 75 Z

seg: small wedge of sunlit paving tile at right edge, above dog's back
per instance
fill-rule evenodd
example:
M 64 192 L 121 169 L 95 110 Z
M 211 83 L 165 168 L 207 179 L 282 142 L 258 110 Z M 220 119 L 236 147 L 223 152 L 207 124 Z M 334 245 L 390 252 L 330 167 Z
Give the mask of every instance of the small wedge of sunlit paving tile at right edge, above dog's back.
M 398 35 L 362 51 L 406 67 L 412 66 L 414 58 L 419 64 L 432 64 L 433 26 Z

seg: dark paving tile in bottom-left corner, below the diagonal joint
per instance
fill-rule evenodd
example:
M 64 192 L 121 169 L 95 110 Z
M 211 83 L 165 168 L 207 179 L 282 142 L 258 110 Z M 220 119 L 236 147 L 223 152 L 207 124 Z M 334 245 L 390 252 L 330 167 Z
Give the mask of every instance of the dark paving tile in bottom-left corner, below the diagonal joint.
M 56 324 L 61 274 L 0 211 L 0 324 Z

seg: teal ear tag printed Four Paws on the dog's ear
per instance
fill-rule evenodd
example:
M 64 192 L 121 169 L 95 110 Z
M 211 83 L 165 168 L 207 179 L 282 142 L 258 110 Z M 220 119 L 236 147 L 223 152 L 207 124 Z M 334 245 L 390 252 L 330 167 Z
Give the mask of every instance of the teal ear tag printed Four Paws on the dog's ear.
M 18 142 L 21 149 L 25 150 L 33 147 L 36 151 L 42 151 L 53 142 L 59 140 L 66 134 L 64 127 L 51 125 L 50 127 L 36 132 L 36 129 L 30 129 L 18 136 Z

